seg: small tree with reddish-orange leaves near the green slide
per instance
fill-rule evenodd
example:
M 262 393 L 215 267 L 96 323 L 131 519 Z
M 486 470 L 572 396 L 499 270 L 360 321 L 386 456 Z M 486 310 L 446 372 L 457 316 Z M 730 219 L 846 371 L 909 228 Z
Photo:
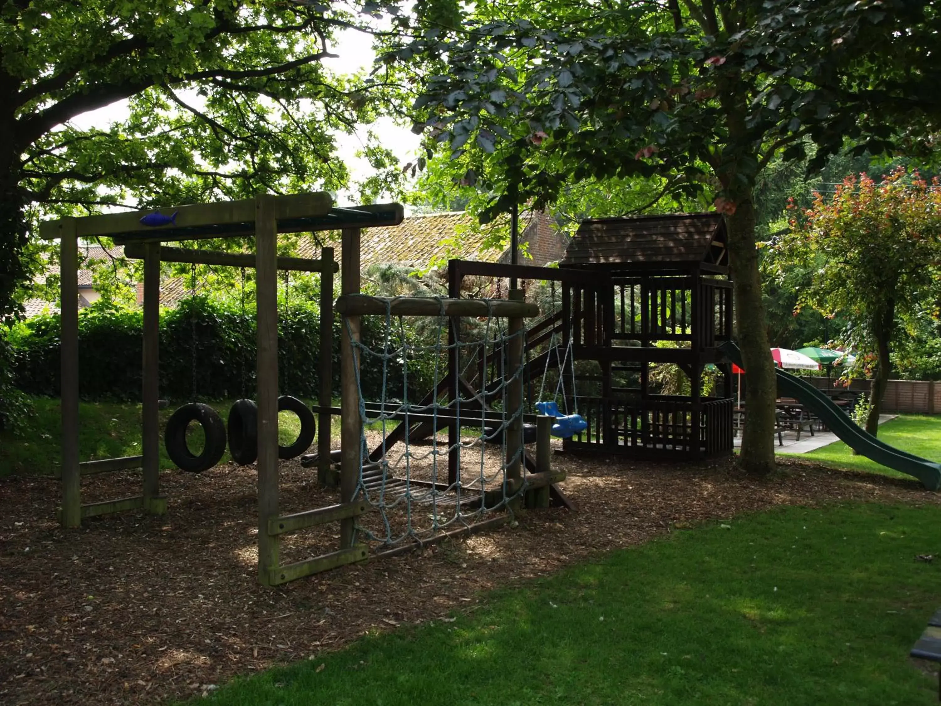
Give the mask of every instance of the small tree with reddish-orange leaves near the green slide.
M 874 353 L 866 430 L 875 434 L 893 343 L 926 309 L 939 315 L 941 182 L 905 168 L 881 182 L 849 176 L 832 198 L 817 194 L 811 208 L 791 219 L 778 249 L 782 271 L 799 264 L 817 273 L 798 306 L 843 313 L 855 332 L 850 343 Z

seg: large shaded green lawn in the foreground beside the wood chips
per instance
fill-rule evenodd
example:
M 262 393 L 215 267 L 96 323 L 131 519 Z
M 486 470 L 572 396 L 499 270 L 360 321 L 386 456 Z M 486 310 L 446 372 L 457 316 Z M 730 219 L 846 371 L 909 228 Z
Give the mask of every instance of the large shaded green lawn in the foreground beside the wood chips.
M 498 591 L 193 703 L 932 704 L 941 508 L 776 508 Z M 355 597 L 352 599 L 355 600 Z

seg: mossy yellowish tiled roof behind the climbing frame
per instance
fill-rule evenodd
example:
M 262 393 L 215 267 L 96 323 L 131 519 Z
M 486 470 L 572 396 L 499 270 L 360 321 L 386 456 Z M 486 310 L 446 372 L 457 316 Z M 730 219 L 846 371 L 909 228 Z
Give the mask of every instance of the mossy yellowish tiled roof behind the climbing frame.
M 433 260 L 463 258 L 496 262 L 503 249 L 485 249 L 488 227 L 475 228 L 474 217 L 466 212 L 409 216 L 401 225 L 364 228 L 360 241 L 360 262 L 369 265 L 396 263 L 426 267 Z M 334 243 L 340 260 L 339 242 Z M 319 248 L 311 238 L 301 239 L 299 257 L 317 257 Z

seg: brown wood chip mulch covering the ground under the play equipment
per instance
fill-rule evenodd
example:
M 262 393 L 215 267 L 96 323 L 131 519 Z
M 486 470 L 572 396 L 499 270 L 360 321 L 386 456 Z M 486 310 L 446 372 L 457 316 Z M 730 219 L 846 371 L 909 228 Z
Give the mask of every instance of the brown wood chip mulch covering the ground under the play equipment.
M 123 704 L 186 698 L 237 674 L 316 658 L 370 631 L 469 610 L 481 592 L 700 521 L 843 500 L 938 505 L 914 481 L 788 461 L 770 478 L 731 459 L 701 465 L 557 456 L 579 512 L 371 560 L 278 588 L 256 581 L 254 473 L 167 472 L 162 518 L 137 512 L 63 531 L 55 480 L 0 481 L 0 703 Z M 290 509 L 336 502 L 316 473 L 282 466 Z M 133 473 L 83 481 L 86 502 L 139 493 Z M 335 525 L 321 540 L 327 551 Z M 335 548 L 335 547 L 333 547 Z M 309 546 L 301 547 L 310 551 Z M 290 543 L 286 554 L 297 550 Z M 296 558 L 302 558 L 298 556 Z M 294 560 L 288 556 L 286 560 Z

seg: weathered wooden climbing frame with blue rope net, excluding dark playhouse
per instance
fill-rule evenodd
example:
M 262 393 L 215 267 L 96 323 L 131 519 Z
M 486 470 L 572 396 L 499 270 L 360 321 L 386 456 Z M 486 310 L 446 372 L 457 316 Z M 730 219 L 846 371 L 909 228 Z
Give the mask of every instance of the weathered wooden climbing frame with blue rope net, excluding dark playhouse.
M 170 215 L 172 212 L 172 215 Z M 389 226 L 400 223 L 403 210 L 399 204 L 377 204 L 356 208 L 334 208 L 327 194 L 311 193 L 291 196 L 261 195 L 252 200 L 230 201 L 209 204 L 164 208 L 156 212 L 137 212 L 92 217 L 67 217 L 44 222 L 40 234 L 46 239 L 60 241 L 61 257 L 61 407 L 62 407 L 62 505 L 59 510 L 64 527 L 76 527 L 86 518 L 143 509 L 151 514 L 167 512 L 167 499 L 160 492 L 158 427 L 158 326 L 159 326 L 159 277 L 161 262 L 182 262 L 207 265 L 234 265 L 254 267 L 257 278 L 257 488 L 258 488 L 258 579 L 263 585 L 273 586 L 312 573 L 331 569 L 343 564 L 361 561 L 369 555 L 369 547 L 357 540 L 357 519 L 376 507 L 386 515 L 385 490 L 400 489 L 401 479 L 393 478 L 388 468 L 380 468 L 376 476 L 376 464 L 366 462 L 362 456 L 364 445 L 364 417 L 359 387 L 359 358 L 364 348 L 359 342 L 359 321 L 364 314 L 433 315 L 454 321 L 460 316 L 504 317 L 511 332 L 508 351 L 511 361 L 522 366 L 523 319 L 537 315 L 538 308 L 521 300 L 521 294 L 512 293 L 509 300 L 484 301 L 460 298 L 422 299 L 397 298 L 377 300 L 375 297 L 359 295 L 359 237 L 360 229 Z M 277 272 L 299 270 L 318 272 L 321 275 L 321 386 L 316 411 L 319 413 L 318 478 L 322 483 L 330 480 L 330 463 L 336 452 L 330 448 L 330 414 L 337 411 L 331 407 L 330 350 L 333 320 L 333 274 L 337 265 L 333 262 L 332 249 L 323 249 L 319 260 L 284 258 L 277 254 L 279 233 L 341 231 L 343 242 L 342 296 L 336 301 L 336 311 L 343 314 L 343 329 L 349 335 L 341 339 L 342 350 L 342 448 L 339 477 L 340 502 L 336 505 L 282 515 L 279 512 L 279 440 L 278 440 L 278 304 Z M 116 244 L 126 246 L 126 254 L 139 258 L 144 263 L 143 293 L 143 361 L 142 361 L 142 453 L 135 457 L 107 458 L 82 461 L 78 449 L 78 312 L 77 263 L 79 238 L 94 235 L 111 237 Z M 254 236 L 254 253 L 229 253 L 203 249 L 167 248 L 166 242 L 201 240 L 220 237 Z M 359 346 L 359 347 L 358 347 Z M 454 523 L 456 529 L 438 531 L 434 536 L 419 538 L 411 529 L 400 538 L 398 546 L 385 548 L 379 554 L 407 551 L 427 541 L 451 536 L 455 532 L 471 532 L 510 521 L 512 512 L 522 502 L 530 506 L 549 504 L 550 485 L 564 477 L 551 473 L 549 468 L 549 429 L 551 420 L 544 418 L 538 424 L 537 468 L 534 473 L 522 472 L 522 383 L 518 375 L 505 383 L 507 408 L 501 413 L 480 409 L 478 419 L 500 426 L 496 434 L 501 440 L 504 462 L 500 469 L 499 482 L 487 487 L 481 478 L 475 490 L 466 489 L 461 499 L 462 485 L 459 478 L 448 484 L 437 479 L 409 481 L 409 488 L 422 488 L 430 497 L 432 505 L 440 503 L 442 493 L 455 492 L 457 499 L 450 503 L 456 507 L 457 515 L 447 522 L 433 524 L 441 530 Z M 387 411 L 383 400 L 380 414 Z M 478 411 L 478 410 L 475 410 Z M 507 413 L 509 411 L 509 413 Z M 215 414 L 215 411 L 212 412 Z M 411 415 L 411 416 L 409 416 Z M 410 420 L 420 419 L 421 412 L 403 408 L 393 410 L 390 419 L 404 418 L 401 426 L 408 427 Z M 464 421 L 459 409 L 436 406 L 433 416 L 451 422 L 455 428 Z M 205 426 L 205 425 L 204 425 Z M 209 429 L 207 431 L 207 443 Z M 459 432 L 458 432 L 459 433 Z M 230 439 L 231 443 L 231 439 Z M 457 449 L 449 451 L 459 454 Z M 483 454 L 483 452 L 481 452 Z M 142 470 L 140 495 L 100 503 L 83 504 L 81 479 L 90 473 L 106 473 L 127 469 Z M 378 482 L 382 491 L 380 505 L 366 502 L 370 489 Z M 492 484 L 491 484 L 492 485 Z M 429 490 L 430 488 L 430 490 Z M 397 502 L 407 498 L 409 507 L 412 496 L 399 491 L 392 499 Z M 392 505 L 395 504 L 392 503 Z M 468 515 L 462 516 L 462 507 L 475 505 Z M 509 510 L 509 512 L 502 512 Z M 491 514 L 487 520 L 479 520 L 483 514 Z M 282 535 L 327 522 L 340 522 L 340 546 L 327 554 L 282 565 L 279 561 L 279 540 Z M 410 521 L 410 517 L 409 517 Z M 388 522 L 387 522 L 388 523 Z M 404 538 L 404 539 L 403 539 Z M 409 540 L 409 541 L 406 541 Z

